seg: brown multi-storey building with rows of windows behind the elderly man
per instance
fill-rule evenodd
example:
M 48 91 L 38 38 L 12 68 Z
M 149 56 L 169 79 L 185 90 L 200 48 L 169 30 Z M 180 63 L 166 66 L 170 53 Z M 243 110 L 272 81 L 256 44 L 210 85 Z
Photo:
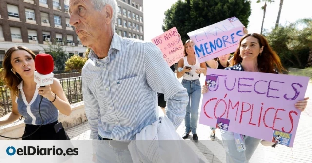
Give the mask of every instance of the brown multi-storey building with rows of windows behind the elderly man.
M 117 0 L 116 33 L 142 39 L 143 0 Z M 64 0 L 0 0 L 0 62 L 12 46 L 26 46 L 36 54 L 49 44 L 59 44 L 69 54 L 86 50 L 69 24 Z

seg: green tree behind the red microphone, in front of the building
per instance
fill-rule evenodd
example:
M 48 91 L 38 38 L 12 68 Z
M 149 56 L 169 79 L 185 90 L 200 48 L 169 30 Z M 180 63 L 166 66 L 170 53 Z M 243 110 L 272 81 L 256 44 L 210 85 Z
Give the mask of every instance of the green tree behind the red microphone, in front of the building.
M 57 73 L 62 73 L 65 70 L 65 62 L 69 58 L 64 46 L 59 43 L 49 44 L 48 47 L 42 47 L 44 53 L 50 54 L 53 57 L 54 68 Z

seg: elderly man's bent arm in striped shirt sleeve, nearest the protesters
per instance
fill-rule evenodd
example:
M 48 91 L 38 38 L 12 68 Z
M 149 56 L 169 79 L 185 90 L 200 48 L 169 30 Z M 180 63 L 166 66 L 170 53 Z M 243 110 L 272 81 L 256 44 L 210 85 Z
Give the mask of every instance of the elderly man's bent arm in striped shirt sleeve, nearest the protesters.
M 163 93 L 167 101 L 167 116 L 177 128 L 182 123 L 188 94 L 169 68 L 160 49 L 153 43 L 145 43 L 144 68 L 146 80 L 155 92 Z

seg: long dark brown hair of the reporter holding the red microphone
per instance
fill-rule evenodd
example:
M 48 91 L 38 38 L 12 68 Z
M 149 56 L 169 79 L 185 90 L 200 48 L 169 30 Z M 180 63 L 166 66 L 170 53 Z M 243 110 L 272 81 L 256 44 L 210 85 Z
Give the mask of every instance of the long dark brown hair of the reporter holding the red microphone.
M 18 85 L 22 81 L 22 78 L 18 73 L 13 73 L 12 69 L 12 64 L 11 64 L 11 56 L 14 51 L 17 50 L 24 50 L 27 51 L 33 59 L 35 59 L 36 55 L 34 52 L 29 50 L 28 48 L 24 46 L 14 46 L 11 47 L 8 51 L 6 51 L 4 55 L 4 60 L 3 60 L 3 68 L 4 68 L 4 82 L 6 83 L 6 86 L 9 87 L 11 91 L 13 91 L 14 95 L 18 96 L 19 89 Z

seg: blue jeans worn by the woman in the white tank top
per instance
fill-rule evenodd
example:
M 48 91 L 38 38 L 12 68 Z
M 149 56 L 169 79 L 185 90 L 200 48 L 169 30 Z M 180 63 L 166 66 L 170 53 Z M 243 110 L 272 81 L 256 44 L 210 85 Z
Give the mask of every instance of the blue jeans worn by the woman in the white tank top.
M 185 132 L 196 134 L 197 121 L 198 121 L 198 109 L 201 97 L 201 86 L 199 79 L 197 80 L 182 80 L 182 85 L 187 90 L 189 95 L 189 103 L 186 106 L 186 114 L 184 118 Z

